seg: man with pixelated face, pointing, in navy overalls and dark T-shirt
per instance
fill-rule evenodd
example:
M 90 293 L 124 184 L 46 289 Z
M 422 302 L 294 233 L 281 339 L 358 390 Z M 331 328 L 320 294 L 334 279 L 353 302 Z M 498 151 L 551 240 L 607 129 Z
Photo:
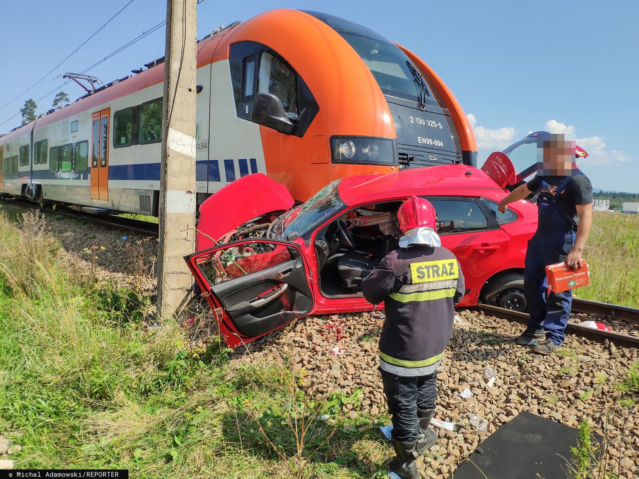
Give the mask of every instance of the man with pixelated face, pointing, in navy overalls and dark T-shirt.
M 592 226 L 592 185 L 574 164 L 575 144 L 564 135 L 541 132 L 537 137 L 537 176 L 502 199 L 507 204 L 539 193 L 537 231 L 528 241 L 524 290 L 530 320 L 516 344 L 550 354 L 566 338 L 573 291 L 547 291 L 546 266 L 565 261 L 581 267 L 581 252 Z

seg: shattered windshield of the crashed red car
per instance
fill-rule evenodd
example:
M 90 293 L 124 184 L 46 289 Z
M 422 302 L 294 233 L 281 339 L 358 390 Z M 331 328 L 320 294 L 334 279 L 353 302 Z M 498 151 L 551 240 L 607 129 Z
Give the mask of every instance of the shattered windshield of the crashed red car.
M 284 233 L 287 238 L 307 235 L 313 231 L 315 225 L 321 224 L 327 218 L 346 208 L 346 204 L 337 193 L 339 181 L 339 179 L 335 179 L 335 181 L 328 183 L 309 201 L 288 214 L 284 219 Z

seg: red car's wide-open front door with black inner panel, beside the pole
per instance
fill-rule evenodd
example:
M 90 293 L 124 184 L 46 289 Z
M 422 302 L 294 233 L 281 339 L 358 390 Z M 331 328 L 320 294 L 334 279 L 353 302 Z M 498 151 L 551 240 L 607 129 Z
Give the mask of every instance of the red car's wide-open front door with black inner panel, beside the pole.
M 243 239 L 185 260 L 228 347 L 253 341 L 312 310 L 308 267 L 296 243 Z

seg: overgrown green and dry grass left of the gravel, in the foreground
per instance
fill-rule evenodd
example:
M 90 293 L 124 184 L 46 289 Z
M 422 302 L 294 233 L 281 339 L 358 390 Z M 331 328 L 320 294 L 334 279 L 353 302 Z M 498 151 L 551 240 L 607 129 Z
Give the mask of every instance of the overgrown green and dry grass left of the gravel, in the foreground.
M 43 231 L 0 215 L 0 431 L 17 467 L 348 479 L 390 459 L 369 419 L 346 417 L 360 393 L 321 400 L 286 361 L 231 367 L 219 338 L 148 328 L 150 298 L 58 261 Z

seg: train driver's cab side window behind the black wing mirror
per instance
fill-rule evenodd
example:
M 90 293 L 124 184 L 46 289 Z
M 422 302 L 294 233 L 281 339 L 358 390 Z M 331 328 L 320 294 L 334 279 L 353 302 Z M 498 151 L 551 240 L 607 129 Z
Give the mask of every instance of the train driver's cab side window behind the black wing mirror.
M 298 119 L 297 75 L 282 59 L 269 52 L 262 52 L 259 60 L 258 91 L 273 93 L 282 102 L 286 116 Z

